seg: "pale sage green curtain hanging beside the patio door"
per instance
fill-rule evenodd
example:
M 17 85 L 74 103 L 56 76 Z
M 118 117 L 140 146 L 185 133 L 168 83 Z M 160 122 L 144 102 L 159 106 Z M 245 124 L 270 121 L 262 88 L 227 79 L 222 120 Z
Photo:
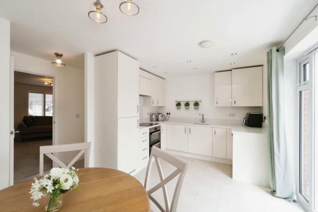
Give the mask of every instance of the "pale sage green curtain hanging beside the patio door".
M 285 136 L 285 49 L 280 48 L 279 52 L 276 49 L 267 52 L 269 183 L 274 196 L 293 201 L 296 184 Z

